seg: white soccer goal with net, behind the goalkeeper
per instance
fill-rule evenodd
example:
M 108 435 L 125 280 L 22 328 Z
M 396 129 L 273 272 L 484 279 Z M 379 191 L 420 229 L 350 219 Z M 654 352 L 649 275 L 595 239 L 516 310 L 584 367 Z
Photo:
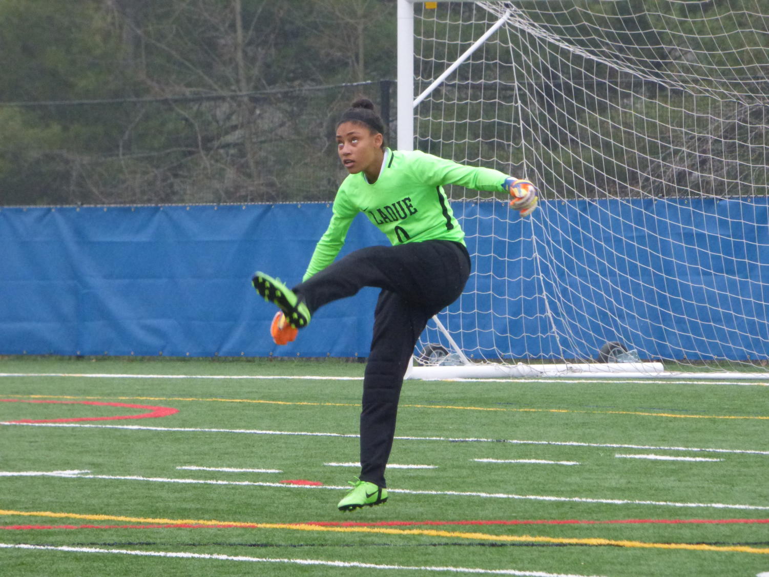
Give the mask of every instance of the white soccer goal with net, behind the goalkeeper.
M 411 377 L 767 378 L 769 5 L 398 0 L 398 148 L 525 177 L 447 190 L 474 271 Z

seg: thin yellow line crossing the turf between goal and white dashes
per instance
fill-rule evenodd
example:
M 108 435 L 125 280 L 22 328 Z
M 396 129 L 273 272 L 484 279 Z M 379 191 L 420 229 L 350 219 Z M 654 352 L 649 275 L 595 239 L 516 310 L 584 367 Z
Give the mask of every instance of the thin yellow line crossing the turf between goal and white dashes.
M 200 399 L 198 397 L 103 397 L 103 396 L 71 396 L 71 395 L 5 395 L 24 399 L 117 399 L 118 401 L 196 401 L 196 402 L 250 402 L 262 405 L 300 405 L 315 407 L 360 407 L 358 403 L 345 402 L 303 402 L 303 401 L 265 401 L 262 399 Z M 744 419 L 769 421 L 769 416 L 741 415 L 676 415 L 664 412 L 639 411 L 574 411 L 571 409 L 507 409 L 502 407 L 463 407 L 457 405 L 400 405 L 401 408 L 411 409 L 455 409 L 460 411 L 494 411 L 494 412 L 557 412 L 583 415 L 638 415 L 642 417 L 668 417 L 671 419 Z

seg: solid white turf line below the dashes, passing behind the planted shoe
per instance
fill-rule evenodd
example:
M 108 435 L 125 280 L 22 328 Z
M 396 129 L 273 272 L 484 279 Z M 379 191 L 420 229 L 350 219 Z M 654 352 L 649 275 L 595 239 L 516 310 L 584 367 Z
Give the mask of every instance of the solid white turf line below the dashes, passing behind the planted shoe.
M 30 475 L 31 476 L 31 475 Z M 117 481 L 145 481 L 158 483 L 180 483 L 182 485 L 238 485 L 252 487 L 281 487 L 284 489 L 349 489 L 338 485 L 291 485 L 289 483 L 268 483 L 256 481 L 221 481 L 218 479 L 166 479 L 163 477 L 142 477 L 140 475 L 54 475 L 41 473 L 39 476 L 62 477 L 63 479 L 107 479 Z M 697 503 L 674 501 L 644 501 L 638 499 L 595 499 L 588 497 L 559 497 L 554 495 L 516 495 L 514 493 L 485 493 L 463 491 L 415 491 L 412 489 L 389 489 L 391 493 L 404 495 L 451 495 L 455 497 L 481 497 L 483 499 L 517 499 L 523 501 L 602 503 L 605 505 L 652 505 L 664 507 L 687 507 L 692 509 L 744 509 L 769 511 L 769 505 L 734 505 L 726 503 Z

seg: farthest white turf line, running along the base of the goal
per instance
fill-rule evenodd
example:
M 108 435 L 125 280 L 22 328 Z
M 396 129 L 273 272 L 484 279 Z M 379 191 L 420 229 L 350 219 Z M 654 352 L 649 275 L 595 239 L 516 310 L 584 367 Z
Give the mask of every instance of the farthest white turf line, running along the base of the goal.
M 655 375 L 656 376 L 656 375 Z M 129 375 L 125 373 L 76 373 L 76 372 L 0 372 L 2 377 L 79 377 L 82 379 L 299 379 L 303 381 L 362 381 L 363 377 L 330 377 L 320 375 Z M 507 382 L 507 383 L 550 383 L 561 385 L 574 385 L 574 378 L 560 377 L 558 379 L 441 379 L 443 382 Z M 723 375 L 714 375 L 712 379 L 707 379 L 701 373 L 687 373 L 686 375 L 674 375 L 670 379 L 651 380 L 650 379 L 594 379 L 583 376 L 579 379 L 581 383 L 597 382 L 606 384 L 607 382 L 616 384 L 638 384 L 638 385 L 741 385 L 741 386 L 769 386 L 769 374 L 756 374 L 750 376 L 740 376 L 746 381 L 729 381 L 728 377 Z M 694 381 L 691 379 L 707 379 Z M 751 382 L 750 379 L 765 379 L 765 382 Z

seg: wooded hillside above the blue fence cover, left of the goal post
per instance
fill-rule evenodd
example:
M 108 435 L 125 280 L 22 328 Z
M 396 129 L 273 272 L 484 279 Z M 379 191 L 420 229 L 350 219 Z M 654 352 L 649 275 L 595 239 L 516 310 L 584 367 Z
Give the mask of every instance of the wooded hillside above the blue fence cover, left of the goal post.
M 394 27 L 385 0 L 5 0 L 0 204 L 331 198 Z

